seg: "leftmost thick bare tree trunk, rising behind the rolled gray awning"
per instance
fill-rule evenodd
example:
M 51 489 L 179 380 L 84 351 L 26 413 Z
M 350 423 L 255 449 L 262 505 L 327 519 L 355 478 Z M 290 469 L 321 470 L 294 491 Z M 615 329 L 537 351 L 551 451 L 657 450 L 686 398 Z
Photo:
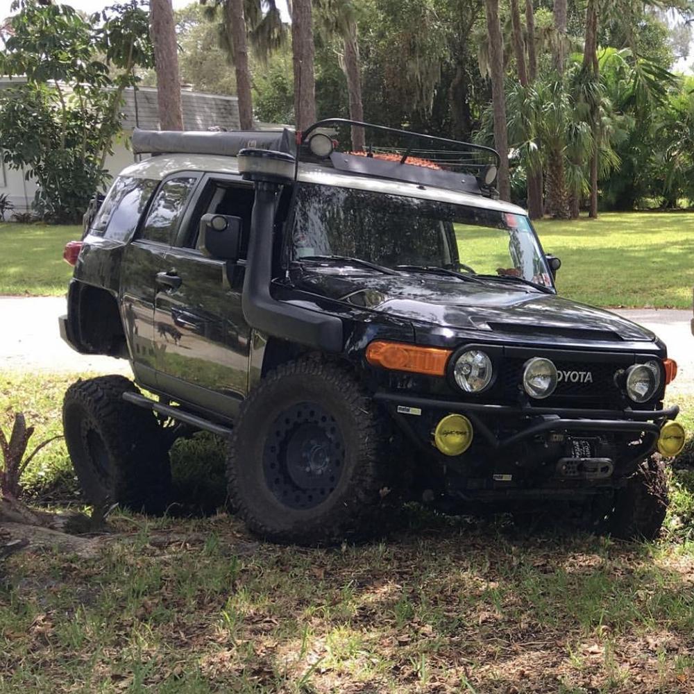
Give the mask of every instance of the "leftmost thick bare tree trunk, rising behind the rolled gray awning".
M 157 72 L 159 126 L 162 130 L 183 130 L 174 10 L 171 0 L 151 0 L 150 8 L 149 31 Z

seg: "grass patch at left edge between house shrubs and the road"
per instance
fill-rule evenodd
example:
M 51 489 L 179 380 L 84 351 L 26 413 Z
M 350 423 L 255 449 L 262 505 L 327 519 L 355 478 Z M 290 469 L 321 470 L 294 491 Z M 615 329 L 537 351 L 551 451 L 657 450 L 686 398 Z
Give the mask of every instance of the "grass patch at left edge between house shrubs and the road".
M 78 226 L 0 223 L 0 294 L 65 294 L 72 269 L 62 249 L 81 235 Z

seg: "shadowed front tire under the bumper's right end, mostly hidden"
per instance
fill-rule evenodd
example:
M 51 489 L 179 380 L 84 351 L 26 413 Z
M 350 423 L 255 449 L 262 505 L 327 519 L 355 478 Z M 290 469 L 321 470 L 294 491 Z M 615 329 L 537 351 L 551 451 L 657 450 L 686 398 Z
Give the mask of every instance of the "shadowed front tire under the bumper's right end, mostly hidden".
M 663 460 L 645 459 L 616 491 L 601 532 L 624 540 L 654 540 L 668 510 L 668 478 Z

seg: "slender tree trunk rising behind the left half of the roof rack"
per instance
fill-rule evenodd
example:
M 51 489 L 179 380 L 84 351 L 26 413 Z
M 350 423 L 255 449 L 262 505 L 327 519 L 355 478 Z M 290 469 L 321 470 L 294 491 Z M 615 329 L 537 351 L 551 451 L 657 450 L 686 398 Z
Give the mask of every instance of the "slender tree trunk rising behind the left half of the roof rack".
M 355 3 L 352 0 L 319 0 L 316 8 L 319 10 L 319 25 L 326 37 L 337 35 L 343 42 L 340 67 L 347 79 L 349 115 L 353 121 L 363 121 L 364 103 Z M 353 126 L 352 147 L 355 151 L 365 148 L 364 128 Z

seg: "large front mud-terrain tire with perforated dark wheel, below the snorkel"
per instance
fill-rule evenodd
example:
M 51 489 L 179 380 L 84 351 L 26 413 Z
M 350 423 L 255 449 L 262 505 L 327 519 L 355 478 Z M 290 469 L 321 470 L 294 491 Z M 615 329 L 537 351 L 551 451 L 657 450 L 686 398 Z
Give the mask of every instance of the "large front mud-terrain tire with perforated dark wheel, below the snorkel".
M 232 432 L 232 507 L 251 532 L 326 545 L 381 527 L 387 427 L 348 369 L 316 359 L 278 366 L 244 401 Z

